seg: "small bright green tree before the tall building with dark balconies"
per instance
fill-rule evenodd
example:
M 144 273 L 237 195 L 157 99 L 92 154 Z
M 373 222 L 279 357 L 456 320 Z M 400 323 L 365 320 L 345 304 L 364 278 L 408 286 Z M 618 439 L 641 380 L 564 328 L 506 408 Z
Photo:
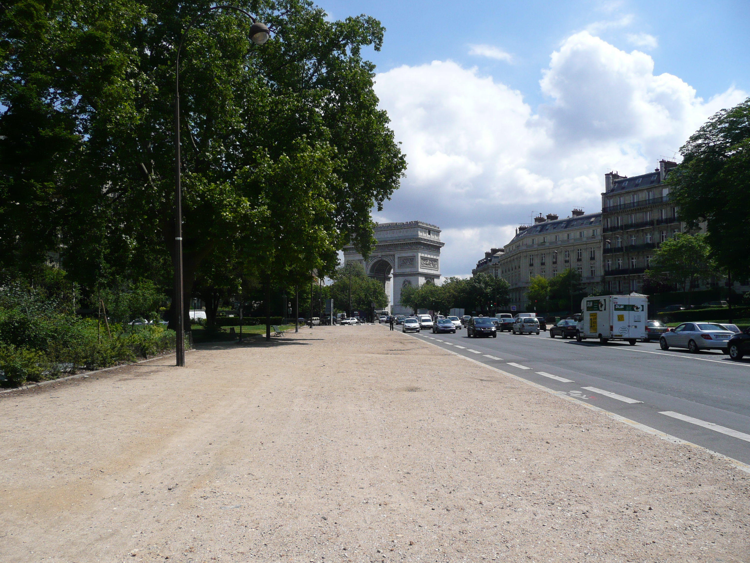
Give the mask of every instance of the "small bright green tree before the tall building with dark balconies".
M 647 270 L 651 275 L 665 275 L 689 294 L 697 281 L 706 281 L 716 272 L 708 236 L 703 233 L 676 233 L 661 243 Z

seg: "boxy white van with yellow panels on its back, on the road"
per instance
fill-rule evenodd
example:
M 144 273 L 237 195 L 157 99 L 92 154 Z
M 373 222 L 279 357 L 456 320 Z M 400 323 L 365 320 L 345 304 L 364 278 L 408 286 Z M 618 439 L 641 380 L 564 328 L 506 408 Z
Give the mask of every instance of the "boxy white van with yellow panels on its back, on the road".
M 576 340 L 599 339 L 601 344 L 625 340 L 635 345 L 646 338 L 648 306 L 648 296 L 640 294 L 584 297 Z

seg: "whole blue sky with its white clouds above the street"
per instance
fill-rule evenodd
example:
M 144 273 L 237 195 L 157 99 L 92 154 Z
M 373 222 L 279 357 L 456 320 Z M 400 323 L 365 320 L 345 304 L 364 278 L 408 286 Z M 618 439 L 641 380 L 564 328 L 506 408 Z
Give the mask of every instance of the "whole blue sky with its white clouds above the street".
M 750 92 L 746 0 L 318 4 L 386 27 L 368 58 L 409 169 L 376 218 L 442 227 L 443 275 L 532 214 L 595 211 L 605 172 L 656 167 Z

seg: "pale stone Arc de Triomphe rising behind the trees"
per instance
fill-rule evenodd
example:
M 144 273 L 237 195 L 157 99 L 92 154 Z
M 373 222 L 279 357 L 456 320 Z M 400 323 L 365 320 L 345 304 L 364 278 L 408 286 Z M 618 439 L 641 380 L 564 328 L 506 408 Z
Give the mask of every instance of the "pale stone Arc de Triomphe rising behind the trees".
M 412 311 L 398 304 L 404 285 L 419 287 L 431 279 L 440 279 L 440 227 L 422 221 L 380 223 L 375 226 L 377 245 L 365 260 L 353 246 L 344 246 L 344 265 L 357 262 L 371 278 L 383 281 L 391 297 L 391 312 L 410 315 Z M 391 294 L 393 290 L 393 294 Z

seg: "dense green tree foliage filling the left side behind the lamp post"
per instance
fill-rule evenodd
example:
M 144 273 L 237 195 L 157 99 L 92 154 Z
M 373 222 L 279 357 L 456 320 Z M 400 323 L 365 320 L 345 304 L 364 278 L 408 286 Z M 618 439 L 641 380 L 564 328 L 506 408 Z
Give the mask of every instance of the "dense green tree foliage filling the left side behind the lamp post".
M 266 45 L 250 44 L 251 22 L 231 11 L 196 21 L 205 3 L 5 7 L 3 267 L 62 249 L 89 292 L 118 278 L 169 287 L 174 46 L 193 22 L 181 55 L 182 306 L 212 277 L 214 255 L 238 256 L 270 291 L 331 272 L 346 242 L 368 254 L 369 211 L 406 166 L 361 53 L 380 49 L 383 27 L 329 21 L 302 0 L 236 5 L 272 25 Z

